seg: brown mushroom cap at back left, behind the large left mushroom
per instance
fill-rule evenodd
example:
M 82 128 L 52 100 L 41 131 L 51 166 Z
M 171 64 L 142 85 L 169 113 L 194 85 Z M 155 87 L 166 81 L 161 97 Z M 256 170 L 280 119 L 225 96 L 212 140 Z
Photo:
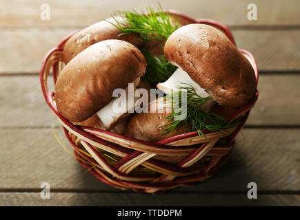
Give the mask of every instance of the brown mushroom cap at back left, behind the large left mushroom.
M 116 23 L 112 18 L 106 20 Z M 63 62 L 68 63 L 74 56 L 90 47 L 90 45 L 109 39 L 127 41 L 137 47 L 143 45 L 143 42 L 138 40 L 139 34 L 123 34 L 118 36 L 121 34 L 121 31 L 108 21 L 103 20 L 94 23 L 71 36 L 63 47 Z

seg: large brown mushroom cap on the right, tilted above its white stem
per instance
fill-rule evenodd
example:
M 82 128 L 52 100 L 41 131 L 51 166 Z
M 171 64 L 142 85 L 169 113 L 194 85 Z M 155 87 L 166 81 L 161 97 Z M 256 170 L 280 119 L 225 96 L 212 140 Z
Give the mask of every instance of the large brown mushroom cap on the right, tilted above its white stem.
M 187 72 L 219 104 L 237 108 L 254 96 L 256 80 L 247 58 L 210 25 L 185 25 L 171 34 L 167 60 Z

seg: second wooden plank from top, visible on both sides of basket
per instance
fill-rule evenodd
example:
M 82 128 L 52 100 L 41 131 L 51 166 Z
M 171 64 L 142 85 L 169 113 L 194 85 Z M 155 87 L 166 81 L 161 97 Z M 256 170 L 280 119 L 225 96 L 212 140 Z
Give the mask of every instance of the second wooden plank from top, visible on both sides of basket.
M 12 28 L 0 32 L 0 74 L 37 74 L 46 53 L 76 28 Z M 261 71 L 300 70 L 300 30 L 234 30 Z

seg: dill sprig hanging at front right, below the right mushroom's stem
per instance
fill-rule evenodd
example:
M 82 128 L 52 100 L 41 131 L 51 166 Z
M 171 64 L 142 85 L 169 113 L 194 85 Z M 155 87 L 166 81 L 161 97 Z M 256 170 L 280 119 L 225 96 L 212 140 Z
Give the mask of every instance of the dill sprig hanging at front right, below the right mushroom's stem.
M 182 83 L 186 84 L 186 83 Z M 221 115 L 217 113 L 211 113 L 211 112 L 203 112 L 199 110 L 199 106 L 206 102 L 207 100 L 210 100 L 211 98 L 208 96 L 207 98 L 202 98 L 199 96 L 194 88 L 190 86 L 188 87 L 177 87 L 179 91 L 174 91 L 173 94 L 168 94 L 166 98 L 166 102 L 172 102 L 179 104 L 179 107 L 181 107 L 181 96 L 182 91 L 181 89 L 184 89 L 186 91 L 187 96 L 187 115 L 186 119 L 182 119 L 183 115 L 181 114 L 181 109 L 175 110 L 173 113 L 170 113 L 170 115 L 166 116 L 166 119 L 168 119 L 170 122 L 168 124 L 164 124 L 161 126 L 163 129 L 163 133 L 170 133 L 172 135 L 172 132 L 179 126 L 186 126 L 188 128 L 188 131 L 197 131 L 198 135 L 200 137 L 205 137 L 206 135 L 203 133 L 203 130 L 208 131 L 216 131 L 222 133 L 226 129 L 230 129 L 234 126 L 237 126 L 237 124 L 233 124 L 232 122 L 228 122 L 225 118 L 223 118 Z M 174 98 L 174 96 L 177 96 Z M 172 105 L 173 107 L 173 105 Z M 174 108 L 173 108 L 174 109 Z M 174 120 L 174 117 L 177 116 L 179 120 Z M 181 117 L 181 118 L 180 118 Z

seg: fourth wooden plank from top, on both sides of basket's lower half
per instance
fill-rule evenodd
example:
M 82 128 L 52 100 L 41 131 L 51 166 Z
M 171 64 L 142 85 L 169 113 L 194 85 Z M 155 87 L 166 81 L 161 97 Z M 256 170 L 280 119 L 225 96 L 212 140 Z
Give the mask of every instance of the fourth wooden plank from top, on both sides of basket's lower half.
M 174 192 L 259 192 L 300 190 L 300 129 L 244 129 L 228 163 L 208 181 Z M 61 129 L 55 129 L 68 149 Z M 55 140 L 51 129 L 0 129 L 0 190 L 52 189 L 121 192 L 86 173 Z M 130 191 L 128 191 L 130 192 Z

